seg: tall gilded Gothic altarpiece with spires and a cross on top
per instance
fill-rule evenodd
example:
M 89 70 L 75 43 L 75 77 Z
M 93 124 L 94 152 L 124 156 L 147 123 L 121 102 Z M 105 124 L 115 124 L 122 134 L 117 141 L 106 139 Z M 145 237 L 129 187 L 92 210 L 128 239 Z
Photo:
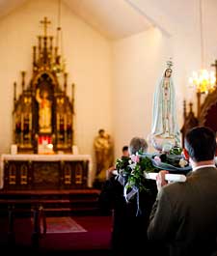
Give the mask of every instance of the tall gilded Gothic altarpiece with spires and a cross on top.
M 67 95 L 68 73 L 53 36 L 47 35 L 50 21 L 41 20 L 43 35 L 33 46 L 32 78 L 26 84 L 21 71 L 21 94 L 16 98 L 14 82 L 14 144 L 18 152 L 70 153 L 73 145 L 74 84 Z M 62 82 L 61 82 L 62 81 Z

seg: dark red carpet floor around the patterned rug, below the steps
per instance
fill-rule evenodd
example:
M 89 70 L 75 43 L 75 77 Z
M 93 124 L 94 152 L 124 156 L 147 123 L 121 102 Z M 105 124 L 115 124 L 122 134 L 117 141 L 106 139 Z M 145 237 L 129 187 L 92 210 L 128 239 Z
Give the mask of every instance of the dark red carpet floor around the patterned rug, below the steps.
M 59 217 L 57 217 L 59 218 Z M 87 232 L 53 233 L 41 236 L 41 252 L 75 252 L 87 250 L 108 250 L 111 242 L 111 216 L 73 216 L 73 220 Z M 7 243 L 7 219 L 0 219 L 0 244 Z M 32 223 L 30 218 L 16 218 L 14 221 L 15 245 L 31 247 Z

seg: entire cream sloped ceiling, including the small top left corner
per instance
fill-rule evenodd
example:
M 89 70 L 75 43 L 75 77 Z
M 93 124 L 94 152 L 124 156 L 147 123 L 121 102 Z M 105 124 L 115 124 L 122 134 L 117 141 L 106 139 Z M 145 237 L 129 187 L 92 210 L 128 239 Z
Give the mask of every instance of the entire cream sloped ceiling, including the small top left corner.
M 28 0 L 0 0 L 0 18 Z M 37 1 L 37 0 L 35 0 Z M 54 0 L 52 0 L 54 1 Z M 110 40 L 156 26 L 167 35 L 191 23 L 199 0 L 55 0 Z M 214 0 L 205 0 L 208 2 Z

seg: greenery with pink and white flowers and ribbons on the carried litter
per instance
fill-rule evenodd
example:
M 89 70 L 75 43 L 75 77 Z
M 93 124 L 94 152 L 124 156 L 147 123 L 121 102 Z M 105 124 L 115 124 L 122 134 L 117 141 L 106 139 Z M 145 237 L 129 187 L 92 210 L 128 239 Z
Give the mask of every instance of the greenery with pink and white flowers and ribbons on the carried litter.
M 182 149 L 174 147 L 167 154 L 148 154 L 137 152 L 136 155 L 118 158 L 116 170 L 118 179 L 123 185 L 123 195 L 126 202 L 130 201 L 146 186 L 146 173 L 168 170 L 171 173 L 187 174 L 191 170 L 188 161 L 181 154 Z

